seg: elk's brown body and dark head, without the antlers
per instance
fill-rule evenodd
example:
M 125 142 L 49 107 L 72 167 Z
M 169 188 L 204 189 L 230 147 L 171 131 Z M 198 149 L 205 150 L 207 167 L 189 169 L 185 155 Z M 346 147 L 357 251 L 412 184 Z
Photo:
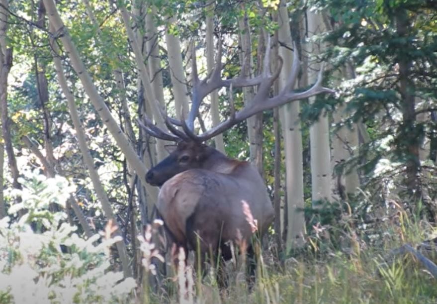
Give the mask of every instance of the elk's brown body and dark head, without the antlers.
M 162 186 L 157 209 L 172 240 L 185 250 L 200 249 L 202 259 L 219 249 L 224 260 L 230 259 L 229 241 L 250 246 L 254 220 L 260 235 L 273 221 L 258 171 L 204 144 L 180 141 L 146 180 Z

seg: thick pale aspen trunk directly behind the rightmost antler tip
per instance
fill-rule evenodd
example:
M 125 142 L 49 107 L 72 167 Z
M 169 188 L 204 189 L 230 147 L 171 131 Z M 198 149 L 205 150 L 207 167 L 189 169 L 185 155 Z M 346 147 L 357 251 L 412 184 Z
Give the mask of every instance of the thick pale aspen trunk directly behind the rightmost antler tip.
M 316 14 L 310 10 L 308 16 L 308 36 L 311 38 L 325 31 L 321 14 Z M 308 47 L 308 54 L 319 54 L 320 47 L 317 43 L 311 43 Z M 309 62 L 308 82 L 315 83 L 320 70 L 320 64 Z M 314 102 L 316 97 L 310 98 Z M 331 156 L 329 146 L 329 121 L 325 112 L 319 116 L 310 127 L 311 145 L 311 197 L 313 202 L 320 200 L 331 201 Z M 319 205 L 315 204 L 314 207 Z

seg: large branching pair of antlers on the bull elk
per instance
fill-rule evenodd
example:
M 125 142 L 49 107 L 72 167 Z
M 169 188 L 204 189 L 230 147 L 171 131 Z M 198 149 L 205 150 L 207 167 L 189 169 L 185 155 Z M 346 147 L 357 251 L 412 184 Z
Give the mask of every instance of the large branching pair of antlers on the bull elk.
M 297 101 L 304 98 L 309 98 L 311 96 L 320 94 L 320 93 L 334 93 L 333 90 L 324 88 L 322 86 L 322 74 L 323 74 L 323 65 L 320 69 L 318 78 L 316 83 L 309 88 L 306 91 L 298 92 L 296 93 L 293 89 L 296 84 L 297 75 L 299 72 L 300 62 L 297 54 L 293 56 L 293 63 L 291 66 L 291 73 L 289 75 L 289 78 L 286 82 L 286 85 L 284 89 L 277 95 L 272 98 L 269 98 L 270 94 L 270 88 L 273 85 L 273 82 L 278 78 L 279 73 L 282 69 L 283 60 L 281 57 L 278 58 L 278 68 L 276 71 L 271 75 L 270 73 L 270 36 L 267 37 L 267 45 L 264 55 L 264 61 L 263 61 L 263 69 L 261 75 L 255 77 L 255 78 L 245 78 L 242 73 L 242 76 L 239 76 L 238 78 L 234 79 L 222 79 L 221 78 L 221 70 L 222 70 L 222 63 L 221 63 L 221 55 L 222 55 L 222 44 L 221 39 L 219 38 L 218 43 L 218 52 L 217 52 L 217 59 L 216 59 L 216 66 L 214 70 L 203 80 L 199 80 L 198 74 L 197 74 L 197 63 L 195 58 L 195 52 L 193 50 L 193 57 L 192 57 L 192 69 L 193 69 L 193 89 L 192 89 L 192 104 L 191 109 L 188 114 L 188 119 L 185 120 L 182 113 L 182 119 L 181 121 L 168 117 L 163 111 L 161 111 L 161 114 L 164 117 L 164 120 L 166 122 L 167 127 L 169 130 L 174 134 L 169 134 L 167 132 L 164 132 L 162 130 L 159 130 L 158 127 L 155 125 L 151 125 L 149 122 L 150 120 L 147 120 L 147 127 L 145 130 L 149 132 L 152 136 L 159 137 L 166 140 L 175 140 L 175 139 L 169 139 L 170 137 L 175 138 L 177 137 L 177 140 L 180 139 L 191 139 L 197 142 L 203 142 L 206 141 L 225 130 L 231 128 L 233 125 L 239 123 L 240 121 L 243 121 L 252 115 L 255 115 L 256 113 L 262 112 L 266 109 L 271 109 L 283 104 L 286 104 L 291 101 Z M 293 45 L 294 49 L 297 50 L 296 45 Z M 244 64 L 242 67 L 242 71 L 244 69 L 248 68 L 245 66 L 246 60 L 243 60 Z M 232 99 L 232 89 L 233 88 L 241 88 L 241 87 L 249 87 L 249 86 L 256 86 L 258 85 L 258 92 L 255 95 L 254 99 L 251 102 L 248 102 L 241 110 L 238 112 L 235 112 L 235 106 L 234 101 Z M 200 134 L 196 135 L 194 133 L 194 120 L 196 116 L 198 115 L 199 106 L 201 101 L 212 91 L 219 89 L 221 87 L 229 87 L 230 88 L 230 95 L 231 98 L 229 99 L 230 103 L 230 109 L 231 109 L 231 115 L 228 119 L 225 121 L 222 121 L 217 126 L 211 128 L 210 130 Z M 173 125 L 172 125 L 173 124 Z M 183 132 L 178 130 L 174 125 L 182 126 Z M 158 131 L 158 130 L 159 131 Z M 152 132 L 150 132 L 152 131 Z M 170 137 L 169 137 L 170 136 Z M 163 138 L 166 137 L 166 138 Z

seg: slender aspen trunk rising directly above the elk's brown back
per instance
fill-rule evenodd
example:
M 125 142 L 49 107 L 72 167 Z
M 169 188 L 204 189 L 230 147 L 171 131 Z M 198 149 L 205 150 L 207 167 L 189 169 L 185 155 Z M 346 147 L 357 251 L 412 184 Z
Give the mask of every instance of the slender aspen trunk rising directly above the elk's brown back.
M 245 70 L 242 71 L 242 75 L 244 77 L 250 78 L 253 76 L 252 41 L 248 18 L 246 15 L 239 19 L 239 27 L 241 32 L 241 48 L 243 50 L 241 56 L 241 65 L 245 67 Z M 261 33 L 259 41 L 260 46 L 262 46 L 262 37 L 263 36 Z M 268 45 L 266 47 L 270 46 Z M 259 48 L 259 51 L 262 51 L 262 47 Z M 261 52 L 259 52 L 259 55 L 261 55 Z M 259 56 L 259 58 L 262 58 L 262 56 Z M 252 102 L 255 97 L 254 87 L 244 87 L 243 97 L 245 104 Z M 258 169 L 258 172 L 260 172 L 261 176 L 263 176 L 264 171 L 262 168 L 262 113 L 257 113 L 247 119 L 247 129 L 250 161 Z

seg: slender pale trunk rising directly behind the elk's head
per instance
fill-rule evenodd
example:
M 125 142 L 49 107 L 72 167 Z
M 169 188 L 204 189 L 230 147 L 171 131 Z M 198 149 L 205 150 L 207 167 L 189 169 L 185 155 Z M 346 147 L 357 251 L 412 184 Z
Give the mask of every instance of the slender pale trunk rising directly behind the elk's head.
M 214 69 L 214 2 L 211 2 L 206 10 L 206 65 L 208 73 Z M 232 94 L 232 92 L 231 92 Z M 218 92 L 214 90 L 209 95 L 211 99 L 211 117 L 212 126 L 220 123 L 220 112 L 218 107 Z M 223 142 L 223 134 L 214 137 L 215 148 L 222 153 L 225 153 L 225 143 Z

